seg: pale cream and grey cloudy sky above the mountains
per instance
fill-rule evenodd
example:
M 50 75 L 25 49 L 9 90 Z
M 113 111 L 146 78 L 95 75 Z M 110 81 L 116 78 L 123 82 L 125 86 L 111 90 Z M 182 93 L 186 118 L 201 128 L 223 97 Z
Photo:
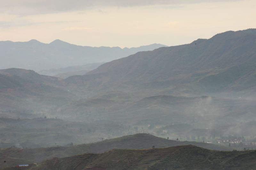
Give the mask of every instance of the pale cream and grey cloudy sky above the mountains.
M 0 41 L 168 46 L 256 28 L 255 0 L 0 0 Z

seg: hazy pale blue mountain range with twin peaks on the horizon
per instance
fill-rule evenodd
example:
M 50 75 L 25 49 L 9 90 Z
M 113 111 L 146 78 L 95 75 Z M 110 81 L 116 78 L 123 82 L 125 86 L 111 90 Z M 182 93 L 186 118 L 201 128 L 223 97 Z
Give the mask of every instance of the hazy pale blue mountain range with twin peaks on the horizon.
M 89 47 L 77 46 L 55 40 L 49 44 L 30 40 L 28 42 L 0 41 L 0 69 L 22 68 L 29 70 L 47 70 L 87 63 L 109 62 L 139 51 L 166 47 L 151 44 L 138 48 Z

